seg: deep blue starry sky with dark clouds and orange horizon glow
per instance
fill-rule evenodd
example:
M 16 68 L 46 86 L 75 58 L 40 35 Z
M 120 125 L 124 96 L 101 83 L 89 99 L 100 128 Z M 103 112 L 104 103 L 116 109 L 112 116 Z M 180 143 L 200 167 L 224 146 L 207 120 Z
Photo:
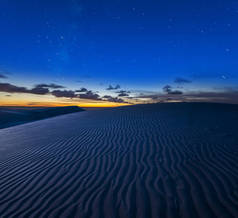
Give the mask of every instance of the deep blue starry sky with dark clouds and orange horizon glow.
M 0 2 L 0 105 L 238 103 L 237 0 Z

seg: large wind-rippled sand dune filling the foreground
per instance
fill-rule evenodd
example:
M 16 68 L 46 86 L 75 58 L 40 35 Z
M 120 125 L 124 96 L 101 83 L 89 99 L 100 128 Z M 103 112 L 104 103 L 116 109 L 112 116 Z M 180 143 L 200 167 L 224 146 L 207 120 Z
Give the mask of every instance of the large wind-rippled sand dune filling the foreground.
M 0 130 L 0 217 L 238 217 L 238 106 L 86 111 Z

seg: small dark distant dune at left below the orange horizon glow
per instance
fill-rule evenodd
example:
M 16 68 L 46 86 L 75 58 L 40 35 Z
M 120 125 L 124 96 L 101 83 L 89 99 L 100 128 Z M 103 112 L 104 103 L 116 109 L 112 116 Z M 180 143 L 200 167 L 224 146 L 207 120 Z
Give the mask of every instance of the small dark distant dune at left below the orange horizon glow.
M 84 109 L 77 106 L 49 108 L 0 107 L 0 129 L 80 111 L 84 111 Z

